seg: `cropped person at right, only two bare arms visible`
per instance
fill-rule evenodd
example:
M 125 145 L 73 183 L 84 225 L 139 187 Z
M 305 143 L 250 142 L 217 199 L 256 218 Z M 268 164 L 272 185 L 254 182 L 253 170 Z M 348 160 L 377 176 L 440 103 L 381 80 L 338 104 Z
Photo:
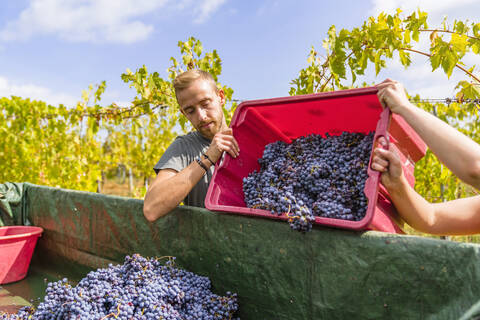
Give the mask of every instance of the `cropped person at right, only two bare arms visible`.
M 480 189 L 480 146 L 428 112 L 412 105 L 401 84 L 390 79 L 377 85 L 383 106 L 402 116 L 437 158 L 458 178 Z M 398 155 L 385 139 L 375 148 L 372 169 L 382 172 L 382 184 L 402 218 L 413 228 L 431 234 L 480 233 L 480 196 L 429 203 L 410 187 Z

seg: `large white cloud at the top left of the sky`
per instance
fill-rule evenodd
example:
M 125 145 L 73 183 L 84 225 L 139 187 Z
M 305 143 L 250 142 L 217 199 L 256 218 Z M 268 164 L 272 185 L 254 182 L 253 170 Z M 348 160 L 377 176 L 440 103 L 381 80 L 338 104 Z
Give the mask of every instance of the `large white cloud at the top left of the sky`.
M 0 40 L 27 40 L 37 35 L 56 35 L 71 42 L 109 42 L 129 44 L 147 39 L 154 25 L 146 16 L 167 9 L 172 3 L 190 10 L 205 22 L 226 0 L 31 0 L 19 16 L 0 30 Z

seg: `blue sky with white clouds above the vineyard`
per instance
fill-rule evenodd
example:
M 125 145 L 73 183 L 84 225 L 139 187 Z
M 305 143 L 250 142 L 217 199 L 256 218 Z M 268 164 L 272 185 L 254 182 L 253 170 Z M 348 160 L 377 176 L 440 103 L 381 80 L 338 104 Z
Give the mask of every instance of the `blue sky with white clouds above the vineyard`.
M 177 42 L 189 36 L 223 62 L 221 82 L 236 99 L 288 95 L 289 82 L 321 48 L 328 28 L 360 26 L 370 15 L 402 7 L 429 13 L 432 26 L 450 18 L 480 22 L 474 0 L 4 0 L 0 2 L 0 96 L 74 104 L 91 83 L 107 81 L 103 103 L 128 103 L 135 92 L 120 75 L 145 64 L 166 76 Z M 467 62 L 479 64 L 478 58 Z M 392 63 L 393 77 L 411 92 L 438 98 L 453 93 L 449 80 L 418 58 L 409 70 Z

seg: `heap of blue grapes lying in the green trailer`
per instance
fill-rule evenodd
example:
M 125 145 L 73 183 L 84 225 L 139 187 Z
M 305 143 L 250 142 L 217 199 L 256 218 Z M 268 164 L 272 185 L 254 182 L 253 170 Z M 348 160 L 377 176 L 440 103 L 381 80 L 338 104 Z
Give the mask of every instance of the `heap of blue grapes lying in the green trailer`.
M 233 319 L 237 295 L 218 296 L 210 288 L 207 277 L 176 268 L 174 258 L 162 265 L 134 254 L 123 265 L 90 272 L 74 287 L 67 279 L 49 283 L 36 309 L 0 319 Z

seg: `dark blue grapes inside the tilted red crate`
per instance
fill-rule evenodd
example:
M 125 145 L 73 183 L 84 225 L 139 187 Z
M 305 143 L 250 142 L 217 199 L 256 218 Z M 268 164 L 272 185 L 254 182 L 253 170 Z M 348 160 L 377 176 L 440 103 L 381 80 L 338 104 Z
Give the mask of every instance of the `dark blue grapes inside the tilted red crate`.
M 286 213 L 294 230 L 310 231 L 315 217 L 359 221 L 374 132 L 312 134 L 265 146 L 260 170 L 243 179 L 249 208 Z

